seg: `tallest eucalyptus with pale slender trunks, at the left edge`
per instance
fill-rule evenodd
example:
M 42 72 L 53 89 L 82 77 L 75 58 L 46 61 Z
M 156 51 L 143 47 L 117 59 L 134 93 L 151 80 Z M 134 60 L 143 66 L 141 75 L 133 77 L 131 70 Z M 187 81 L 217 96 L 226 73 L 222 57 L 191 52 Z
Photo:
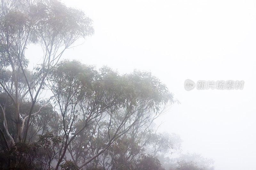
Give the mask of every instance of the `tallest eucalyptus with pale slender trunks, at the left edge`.
M 8 132 L 7 120 L 4 130 L 12 144 L 27 139 L 31 115 L 52 66 L 58 63 L 63 52 L 79 38 L 93 34 L 92 20 L 83 11 L 68 8 L 57 0 L 1 0 L 0 4 L 0 86 L 15 106 L 16 132 Z M 28 71 L 25 51 L 29 44 L 38 44 L 43 53 L 33 71 Z M 9 71 L 10 70 L 10 71 Z M 4 81 L 3 73 L 11 78 Z M 20 87 L 20 78 L 23 78 Z M 20 113 L 20 102 L 30 100 L 28 115 Z M 5 117 L 5 105 L 1 112 Z M 23 120 L 24 129 L 23 129 Z

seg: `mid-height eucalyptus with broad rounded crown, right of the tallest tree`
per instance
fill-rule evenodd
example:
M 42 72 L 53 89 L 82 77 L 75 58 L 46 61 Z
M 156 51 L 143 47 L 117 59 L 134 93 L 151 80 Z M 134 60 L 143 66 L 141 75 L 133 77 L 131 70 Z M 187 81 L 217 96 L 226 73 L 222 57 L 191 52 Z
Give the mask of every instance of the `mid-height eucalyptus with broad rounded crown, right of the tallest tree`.
M 77 154 L 83 157 L 76 162 L 79 168 L 86 166 L 132 127 L 152 122 L 161 106 L 174 102 L 166 86 L 148 72 L 121 76 L 108 67 L 98 72 L 77 61 L 62 61 L 50 75 L 48 86 L 61 113 L 63 134 L 55 169 L 67 150 L 76 161 Z M 97 138 L 101 143 L 94 145 Z

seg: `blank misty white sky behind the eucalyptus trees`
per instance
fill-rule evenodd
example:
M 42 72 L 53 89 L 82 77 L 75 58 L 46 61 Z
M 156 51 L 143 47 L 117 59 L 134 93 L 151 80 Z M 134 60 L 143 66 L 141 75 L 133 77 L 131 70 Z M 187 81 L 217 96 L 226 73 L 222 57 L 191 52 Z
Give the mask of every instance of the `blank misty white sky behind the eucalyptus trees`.
M 159 119 L 160 131 L 179 134 L 185 153 L 214 159 L 216 170 L 256 168 L 256 1 L 64 3 L 83 10 L 95 34 L 63 59 L 120 73 L 151 71 L 181 102 Z M 37 50 L 27 51 L 31 63 L 41 57 Z M 245 84 L 243 90 L 186 91 L 188 78 Z

